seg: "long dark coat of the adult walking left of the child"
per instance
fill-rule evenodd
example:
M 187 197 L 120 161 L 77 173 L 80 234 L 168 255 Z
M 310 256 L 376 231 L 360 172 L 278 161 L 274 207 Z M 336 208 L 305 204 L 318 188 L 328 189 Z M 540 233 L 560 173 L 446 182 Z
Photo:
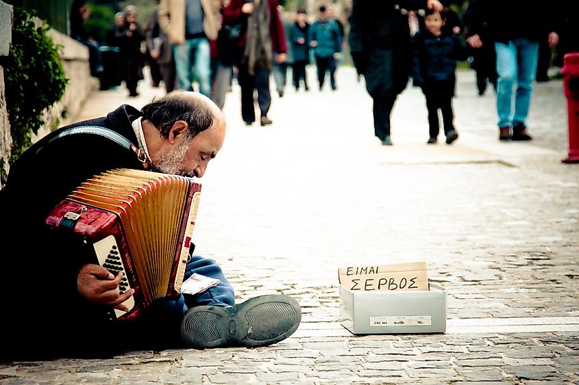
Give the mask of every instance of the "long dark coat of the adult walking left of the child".
M 426 8 L 426 1 L 354 0 L 349 18 L 350 50 L 373 98 L 397 96 L 406 88 L 412 50 L 404 10 L 420 8 Z

